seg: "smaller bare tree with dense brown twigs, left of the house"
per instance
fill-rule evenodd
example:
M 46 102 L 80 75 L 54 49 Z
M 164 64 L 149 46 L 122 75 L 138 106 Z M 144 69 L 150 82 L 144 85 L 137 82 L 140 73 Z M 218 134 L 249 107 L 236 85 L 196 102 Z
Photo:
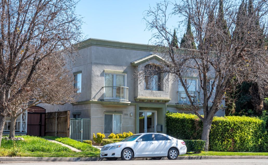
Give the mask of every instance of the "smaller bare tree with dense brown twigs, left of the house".
M 30 110 L 32 106 L 40 103 L 60 104 L 73 103 L 76 101 L 77 89 L 73 87 L 73 76 L 69 69 L 65 67 L 66 59 L 60 54 L 50 56 L 40 61 L 32 75 L 31 82 L 17 95 L 16 101 L 9 106 L 10 133 L 9 138 L 14 139 L 16 119 L 23 112 Z M 24 72 L 31 69 L 27 63 L 21 66 Z M 12 87 L 11 93 L 17 91 L 22 86 L 27 77 L 20 77 Z

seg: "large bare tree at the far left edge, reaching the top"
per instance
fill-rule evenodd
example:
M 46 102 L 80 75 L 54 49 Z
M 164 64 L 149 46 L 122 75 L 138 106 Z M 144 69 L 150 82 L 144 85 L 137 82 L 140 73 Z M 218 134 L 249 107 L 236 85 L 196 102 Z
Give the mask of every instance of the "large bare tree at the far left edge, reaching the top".
M 81 40 L 82 23 L 74 13 L 76 3 L 73 0 L 1 1 L 0 144 L 9 109 L 19 105 L 18 100 L 29 88 L 34 87 L 38 92 L 40 86 L 46 85 L 39 81 L 40 84 L 31 86 L 34 76 L 45 74 L 38 69 L 46 65 L 42 61 L 57 60 L 58 54 L 73 58 L 76 49 L 72 44 Z

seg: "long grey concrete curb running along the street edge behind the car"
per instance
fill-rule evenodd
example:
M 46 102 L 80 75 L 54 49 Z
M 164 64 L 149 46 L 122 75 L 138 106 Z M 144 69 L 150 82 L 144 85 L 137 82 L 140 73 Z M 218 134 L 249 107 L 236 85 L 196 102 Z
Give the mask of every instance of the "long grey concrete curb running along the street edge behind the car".
M 150 160 L 151 158 L 133 158 L 133 160 Z M 268 156 L 179 156 L 177 160 L 199 159 L 268 159 Z M 162 160 L 168 160 L 164 157 Z M 0 157 L 0 163 L 9 162 L 87 162 L 107 161 L 101 157 Z

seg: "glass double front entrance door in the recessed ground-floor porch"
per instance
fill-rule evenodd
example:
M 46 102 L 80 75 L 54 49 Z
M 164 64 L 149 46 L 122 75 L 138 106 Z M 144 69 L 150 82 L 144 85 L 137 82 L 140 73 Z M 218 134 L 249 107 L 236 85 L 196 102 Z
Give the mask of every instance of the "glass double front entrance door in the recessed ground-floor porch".
M 156 132 L 156 111 L 139 112 L 139 133 Z

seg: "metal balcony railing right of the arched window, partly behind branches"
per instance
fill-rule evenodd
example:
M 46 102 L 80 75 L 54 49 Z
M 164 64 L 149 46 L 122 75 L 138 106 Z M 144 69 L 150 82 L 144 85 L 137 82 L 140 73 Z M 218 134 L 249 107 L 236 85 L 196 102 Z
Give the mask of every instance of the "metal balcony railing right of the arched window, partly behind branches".
M 200 92 L 188 91 L 188 93 L 191 96 L 193 104 L 200 103 L 200 96 L 199 96 Z M 185 91 L 178 91 L 178 96 L 179 96 L 179 104 L 191 104 Z

